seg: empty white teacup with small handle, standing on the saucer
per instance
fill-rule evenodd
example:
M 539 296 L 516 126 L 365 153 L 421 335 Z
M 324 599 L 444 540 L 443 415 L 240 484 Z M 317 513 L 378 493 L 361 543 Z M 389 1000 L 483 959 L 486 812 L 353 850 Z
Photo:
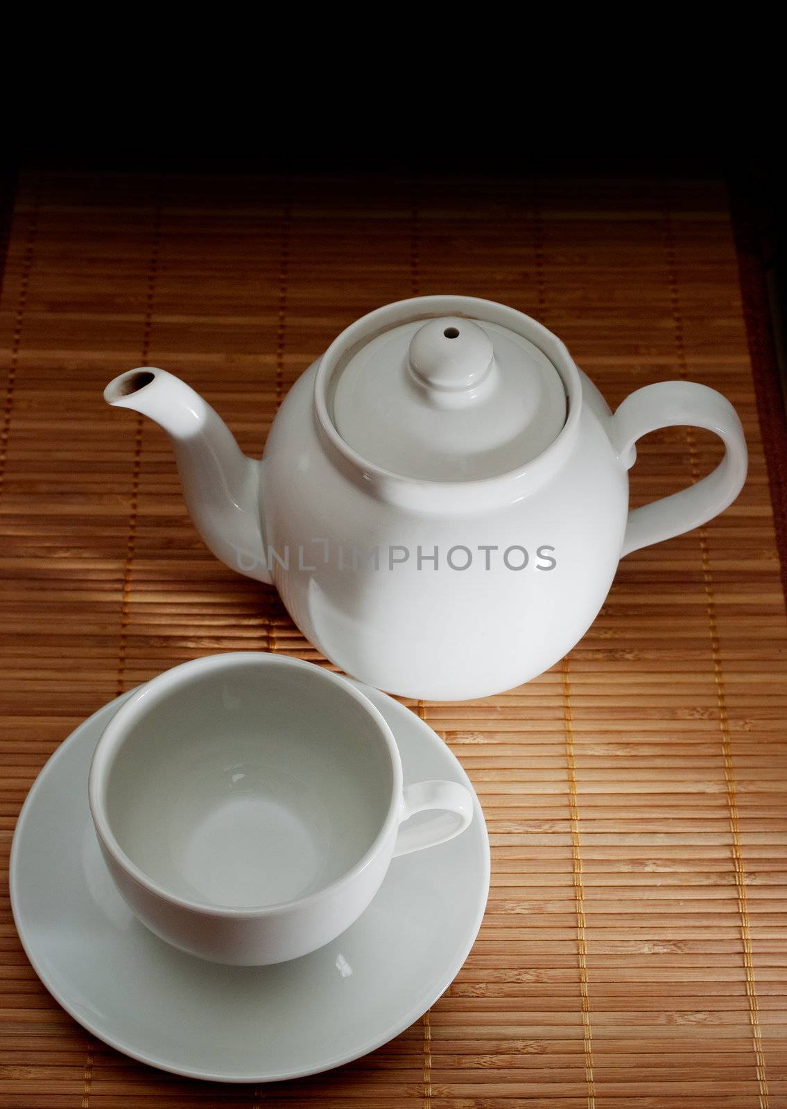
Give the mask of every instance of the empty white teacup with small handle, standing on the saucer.
M 137 690 L 89 781 L 107 864 L 143 924 L 219 963 L 282 963 L 366 908 L 396 855 L 464 831 L 470 792 L 403 787 L 359 690 L 285 655 L 215 654 Z M 414 813 L 440 810 L 415 825 Z

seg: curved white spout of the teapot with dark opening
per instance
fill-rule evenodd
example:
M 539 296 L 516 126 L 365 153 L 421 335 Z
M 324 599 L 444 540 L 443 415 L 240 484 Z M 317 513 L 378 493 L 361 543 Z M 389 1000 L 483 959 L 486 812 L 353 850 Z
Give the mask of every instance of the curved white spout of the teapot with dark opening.
M 260 506 L 262 464 L 241 451 L 199 393 L 153 366 L 109 383 L 104 400 L 132 408 L 167 431 L 191 518 L 210 550 L 233 570 L 270 584 Z

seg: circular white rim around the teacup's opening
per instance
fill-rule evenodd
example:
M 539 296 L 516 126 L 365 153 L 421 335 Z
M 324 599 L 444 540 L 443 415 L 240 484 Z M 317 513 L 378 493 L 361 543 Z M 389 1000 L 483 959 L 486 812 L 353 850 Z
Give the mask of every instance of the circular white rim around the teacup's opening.
M 259 665 L 259 667 L 284 667 L 292 670 L 301 670 L 304 674 L 311 675 L 316 681 L 324 681 L 327 684 L 339 688 L 343 694 L 355 701 L 366 712 L 369 718 L 376 725 L 377 734 L 383 740 L 391 764 L 393 776 L 393 787 L 391 791 L 391 802 L 389 804 L 385 820 L 377 832 L 372 844 L 366 848 L 361 858 L 353 864 L 326 886 L 306 894 L 305 897 L 294 897 L 290 901 L 276 902 L 272 905 L 261 906 L 233 906 L 233 905 L 211 905 L 208 902 L 191 901 L 181 897 L 164 888 L 144 871 L 142 871 L 123 851 L 112 832 L 105 811 L 105 790 L 109 773 L 112 769 L 114 757 L 129 733 L 131 725 L 135 722 L 140 705 L 144 703 L 147 708 L 155 705 L 172 690 L 190 684 L 200 676 L 230 669 L 236 664 Z M 151 700 L 152 699 L 152 700 Z M 140 685 L 131 696 L 123 702 L 107 728 L 101 733 L 95 751 L 90 762 L 88 775 L 88 802 L 93 825 L 99 836 L 101 845 L 110 854 L 112 859 L 121 869 L 133 878 L 140 886 L 154 896 L 175 905 L 179 908 L 198 913 L 202 916 L 213 916 L 231 919 L 264 919 L 281 915 L 287 909 L 306 908 L 311 904 L 317 904 L 325 896 L 341 889 L 357 877 L 377 857 L 380 849 L 391 832 L 398 824 L 397 814 L 402 806 L 403 781 L 402 762 L 398 755 L 398 747 L 394 740 L 393 732 L 380 710 L 372 704 L 367 696 L 352 685 L 345 678 L 333 673 L 313 662 L 304 659 L 293 659 L 285 654 L 273 654 L 268 651 L 225 651 L 220 654 L 209 654 L 200 659 L 192 659 L 188 662 L 179 663 L 157 674 L 150 681 Z

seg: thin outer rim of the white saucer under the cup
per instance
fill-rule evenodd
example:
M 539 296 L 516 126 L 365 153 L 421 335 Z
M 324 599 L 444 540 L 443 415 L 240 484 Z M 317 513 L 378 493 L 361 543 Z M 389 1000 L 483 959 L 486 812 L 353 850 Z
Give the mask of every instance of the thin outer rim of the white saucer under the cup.
M 129 1048 L 128 1046 L 124 1046 L 123 1044 L 119 1042 L 118 1040 L 115 1040 L 111 1036 L 108 1036 L 108 1035 L 99 1031 L 98 1028 L 90 1020 L 84 1019 L 82 1015 L 79 1015 L 79 1016 L 77 1015 L 77 1013 L 74 1011 L 74 1009 L 72 1008 L 72 1006 L 70 1005 L 70 1003 L 68 1001 L 68 999 L 65 999 L 63 996 L 61 996 L 60 991 L 56 987 L 53 987 L 53 986 L 50 985 L 50 981 L 49 981 L 47 973 L 43 970 L 43 968 L 40 966 L 39 962 L 33 957 L 33 955 L 29 950 L 28 943 L 27 943 L 24 934 L 23 934 L 23 929 L 20 928 L 20 925 L 19 925 L 19 912 L 20 912 L 20 909 L 19 909 L 19 906 L 17 904 L 17 892 L 16 891 L 17 891 L 17 885 L 19 883 L 19 877 L 18 877 L 18 865 L 19 865 L 19 863 L 18 863 L 18 858 L 19 858 L 19 851 L 21 849 L 19 847 L 19 844 L 21 843 L 21 832 L 22 832 L 23 824 L 29 818 L 29 811 L 32 807 L 32 804 L 34 804 L 36 794 L 38 793 L 40 783 L 41 783 L 41 781 L 42 781 L 46 772 L 51 771 L 52 766 L 58 762 L 58 760 L 59 760 L 59 757 L 61 755 L 61 752 L 64 750 L 64 747 L 71 742 L 71 740 L 77 735 L 78 732 L 81 732 L 83 729 L 88 730 L 90 728 L 90 725 L 93 723 L 94 719 L 97 716 L 99 716 L 101 713 L 103 713 L 111 705 L 117 704 L 118 708 L 120 708 L 120 705 L 123 704 L 124 701 L 127 701 L 133 693 L 138 692 L 139 689 L 142 688 L 141 685 L 138 685 L 138 686 L 134 686 L 134 689 L 128 690 L 125 693 L 121 693 L 119 696 L 113 698 L 111 701 L 105 702 L 103 705 L 101 705 L 99 709 L 97 709 L 95 712 L 93 712 L 89 716 L 87 716 L 83 721 L 81 721 L 81 723 L 79 723 L 77 725 L 77 728 L 74 728 L 65 736 L 64 740 L 61 741 L 61 743 L 58 745 L 58 747 L 52 752 L 52 754 L 49 756 L 49 759 L 47 760 L 47 762 L 43 764 L 43 766 L 39 771 L 38 775 L 36 776 L 36 781 L 33 782 L 33 784 L 31 785 L 30 790 L 28 791 L 28 795 L 26 796 L 24 802 L 22 804 L 22 807 L 21 807 L 21 810 L 19 812 L 19 817 L 17 818 L 17 824 L 16 824 L 14 831 L 13 831 L 13 836 L 12 836 L 12 841 L 11 841 L 11 852 L 10 852 L 10 856 L 9 856 L 8 884 L 9 884 L 9 894 L 10 894 L 10 902 L 11 902 L 11 915 L 13 917 L 13 923 L 14 923 L 14 926 L 16 926 L 16 929 L 17 929 L 17 934 L 19 936 L 19 940 L 20 940 L 20 943 L 22 945 L 22 949 L 24 950 L 24 954 L 26 954 L 28 960 L 30 962 L 30 965 L 32 966 L 33 970 L 36 971 L 36 975 L 38 976 L 39 980 L 44 986 L 44 988 L 48 990 L 48 993 L 54 998 L 54 1000 L 58 1003 L 58 1005 L 60 1005 L 60 1007 L 65 1013 L 68 1013 L 68 1015 L 81 1028 L 83 1028 L 85 1031 L 88 1031 L 91 1036 L 94 1036 L 95 1039 L 100 1040 L 102 1044 L 105 1044 L 108 1047 L 111 1047 L 113 1050 L 119 1051 L 121 1055 L 124 1055 L 124 1056 L 127 1056 L 130 1059 L 134 1059 L 138 1062 L 142 1062 L 145 1066 L 153 1067 L 154 1069 L 162 1070 L 162 1071 L 164 1071 L 167 1074 L 178 1075 L 179 1077 L 182 1077 L 182 1078 L 193 1078 L 193 1079 L 199 1079 L 199 1080 L 202 1080 L 202 1081 L 226 1082 L 229 1085 L 246 1085 L 246 1086 L 249 1086 L 249 1085 L 262 1085 L 262 1083 L 269 1083 L 269 1082 L 292 1081 L 292 1080 L 297 1079 L 297 1078 L 307 1078 L 307 1077 L 310 1077 L 312 1075 L 321 1075 L 321 1074 L 325 1074 L 325 1072 L 331 1071 L 331 1070 L 335 1070 L 337 1067 L 343 1067 L 343 1066 L 346 1066 L 350 1062 L 354 1062 L 355 1060 L 361 1059 L 364 1056 L 369 1055 L 371 1051 L 375 1051 L 377 1048 L 383 1047 L 385 1044 L 391 1042 L 391 1040 L 395 1039 L 397 1036 L 401 1036 L 403 1031 L 406 1031 L 406 1029 L 410 1028 L 413 1024 L 415 1024 L 415 1021 L 417 1021 L 418 1019 L 421 1019 L 421 1017 L 423 1017 L 424 1013 L 427 1013 L 432 1008 L 432 1006 L 443 996 L 443 994 L 448 988 L 448 986 L 454 981 L 454 979 L 456 978 L 457 974 L 460 973 L 460 970 L 464 966 L 464 964 L 465 964 L 465 962 L 467 959 L 467 956 L 470 955 L 471 950 L 473 949 L 473 946 L 474 946 L 475 940 L 477 938 L 478 932 L 481 929 L 481 925 L 482 925 L 483 919 L 484 919 L 484 915 L 486 913 L 486 905 L 487 905 L 488 894 L 490 894 L 490 881 L 491 881 L 491 868 L 492 868 L 491 849 L 490 849 L 490 837 L 488 837 L 488 831 L 486 828 L 486 821 L 484 820 L 484 813 L 483 813 L 483 810 L 481 807 L 481 802 L 478 801 L 478 797 L 477 797 L 477 794 L 476 794 L 475 788 L 473 786 L 473 783 L 470 781 L 470 777 L 468 777 L 466 771 L 464 770 L 464 767 L 462 766 L 462 763 L 458 761 L 458 759 L 456 757 L 456 755 L 451 751 L 451 749 L 447 746 L 447 744 L 441 739 L 441 736 L 437 735 L 437 733 L 434 731 L 434 729 L 430 728 L 430 725 L 427 724 L 427 722 L 425 720 L 422 720 L 420 716 L 416 716 L 415 713 L 411 709 L 408 709 L 406 705 L 403 705 L 400 701 L 396 701 L 394 698 L 390 696 L 390 694 L 383 693 L 381 690 L 377 690 L 377 689 L 374 689 L 373 686 L 366 685 L 364 682 L 360 682 L 356 679 L 346 678 L 345 680 L 349 681 L 349 682 L 352 682 L 352 684 L 360 692 L 362 692 L 364 695 L 370 696 L 370 694 L 371 694 L 370 700 L 372 700 L 372 704 L 374 704 L 375 708 L 377 708 L 377 705 L 375 704 L 375 702 L 373 700 L 373 696 L 377 695 L 380 698 L 384 698 L 387 701 L 392 701 L 394 703 L 394 705 L 396 705 L 397 709 L 401 709 L 404 712 L 407 712 L 410 714 L 410 716 L 412 718 L 411 723 L 413 723 L 415 726 L 417 726 L 417 729 L 420 731 L 422 731 L 422 732 L 425 730 L 425 732 L 428 733 L 430 742 L 434 742 L 436 740 L 437 743 L 444 749 L 444 753 L 456 764 L 456 766 L 458 767 L 461 774 L 463 775 L 464 784 L 467 785 L 467 787 L 470 788 L 470 791 L 471 791 L 471 793 L 473 795 L 473 816 L 474 816 L 473 823 L 475 824 L 476 821 L 480 821 L 480 826 L 482 828 L 482 841 L 483 841 L 483 847 L 484 847 L 484 851 L 483 851 L 483 871 L 484 871 L 484 874 L 483 874 L 483 887 L 484 887 L 484 892 L 483 892 L 483 895 L 482 895 L 482 898 L 481 898 L 481 902 L 480 902 L 478 910 L 476 912 L 476 916 L 475 916 L 475 919 L 473 922 L 473 926 L 472 926 L 472 928 L 468 928 L 468 943 L 466 944 L 466 946 L 463 945 L 461 957 L 458 957 L 456 960 L 454 960 L 454 963 L 451 965 L 451 969 L 448 971 L 446 971 L 445 975 L 441 976 L 442 979 L 443 979 L 443 983 L 444 983 L 443 986 L 441 987 L 441 989 L 434 995 L 434 997 L 432 997 L 432 999 L 425 1006 L 425 1008 L 422 1008 L 422 1003 L 418 1001 L 417 1005 L 415 1005 L 415 1007 L 413 1009 L 407 1010 L 407 1014 L 406 1014 L 405 1017 L 403 1017 L 402 1019 L 395 1021 L 394 1025 L 392 1025 L 391 1028 L 386 1029 L 385 1032 L 382 1036 L 375 1036 L 371 1040 L 369 1040 L 365 1044 L 363 1044 L 362 1046 L 360 1046 L 357 1048 L 353 1048 L 352 1051 L 349 1055 L 342 1055 L 342 1056 L 337 1057 L 336 1059 L 334 1059 L 333 1061 L 321 1062 L 320 1065 L 317 1065 L 315 1067 L 307 1067 L 305 1069 L 299 1068 L 299 1069 L 295 1069 L 295 1070 L 281 1071 L 281 1072 L 278 1072 L 278 1074 L 266 1074 L 266 1075 L 263 1075 L 263 1076 L 260 1076 L 260 1075 L 225 1075 L 225 1074 L 224 1075 L 216 1075 L 216 1074 L 208 1071 L 208 1070 L 200 1070 L 199 1068 L 186 1068 L 186 1067 L 173 1066 L 172 1064 L 168 1064 L 165 1061 L 157 1060 L 157 1059 L 152 1058 L 150 1055 L 147 1056 L 143 1052 L 133 1050 L 132 1048 Z M 379 710 L 379 711 L 382 713 L 382 710 Z M 110 716 L 110 720 L 112 718 Z M 392 733 L 394 735 L 394 740 L 395 740 L 395 737 L 396 737 L 395 729 L 393 726 L 391 726 L 391 731 L 392 731 Z M 98 739 L 97 739 L 97 743 L 98 743 Z M 480 887 L 481 887 L 481 885 L 482 884 L 480 883 Z

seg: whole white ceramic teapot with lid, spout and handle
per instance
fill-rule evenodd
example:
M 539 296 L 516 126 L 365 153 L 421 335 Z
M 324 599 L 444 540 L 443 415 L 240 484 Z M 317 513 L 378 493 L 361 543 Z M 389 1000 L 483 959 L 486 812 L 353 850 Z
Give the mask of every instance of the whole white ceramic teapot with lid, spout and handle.
M 346 673 L 410 698 L 542 673 L 623 554 L 709 520 L 746 478 L 740 421 L 714 389 L 647 385 L 613 415 L 556 336 L 466 296 L 400 301 L 342 332 L 292 387 L 262 462 L 164 370 L 121 374 L 104 397 L 169 433 L 214 554 L 275 584 Z M 629 511 L 635 441 L 678 424 L 719 435 L 724 458 Z

